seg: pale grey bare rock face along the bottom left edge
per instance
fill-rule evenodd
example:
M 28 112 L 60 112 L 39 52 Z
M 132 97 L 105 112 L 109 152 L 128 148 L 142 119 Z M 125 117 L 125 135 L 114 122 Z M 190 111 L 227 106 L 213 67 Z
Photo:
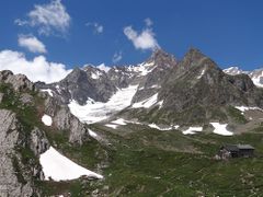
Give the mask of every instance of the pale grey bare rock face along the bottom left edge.
M 32 196 L 31 181 L 19 172 L 21 158 L 14 149 L 20 143 L 15 114 L 0 109 L 0 196 Z

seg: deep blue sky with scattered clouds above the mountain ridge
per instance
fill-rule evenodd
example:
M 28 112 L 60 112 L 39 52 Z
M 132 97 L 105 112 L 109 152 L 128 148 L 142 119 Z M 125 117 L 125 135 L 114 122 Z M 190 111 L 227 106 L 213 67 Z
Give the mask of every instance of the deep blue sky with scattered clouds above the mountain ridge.
M 37 11 L 52 3 L 65 9 L 54 15 L 59 19 L 39 21 Z M 252 70 L 263 66 L 262 9 L 261 0 L 3 0 L 0 53 L 20 51 L 26 60 L 43 56 L 70 69 L 138 63 L 155 46 L 180 59 L 196 47 L 221 68 Z

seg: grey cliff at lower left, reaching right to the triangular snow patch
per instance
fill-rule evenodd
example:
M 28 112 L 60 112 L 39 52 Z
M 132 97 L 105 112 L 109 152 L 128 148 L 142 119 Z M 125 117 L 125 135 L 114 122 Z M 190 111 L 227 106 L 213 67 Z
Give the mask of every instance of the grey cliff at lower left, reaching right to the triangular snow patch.
M 11 111 L 0 109 L 0 196 L 33 196 L 38 192 L 33 178 L 43 179 L 41 166 L 34 157 L 47 150 L 49 143 L 37 128 L 25 135 L 23 126 Z

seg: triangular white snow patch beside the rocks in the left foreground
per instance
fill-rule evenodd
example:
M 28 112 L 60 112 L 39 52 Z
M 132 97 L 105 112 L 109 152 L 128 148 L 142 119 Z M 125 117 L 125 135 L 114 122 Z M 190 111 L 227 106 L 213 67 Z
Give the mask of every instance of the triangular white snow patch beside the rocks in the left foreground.
M 48 181 L 49 177 L 56 182 L 76 179 L 81 176 L 103 178 L 102 175 L 76 164 L 53 147 L 41 154 L 39 162 L 46 181 Z

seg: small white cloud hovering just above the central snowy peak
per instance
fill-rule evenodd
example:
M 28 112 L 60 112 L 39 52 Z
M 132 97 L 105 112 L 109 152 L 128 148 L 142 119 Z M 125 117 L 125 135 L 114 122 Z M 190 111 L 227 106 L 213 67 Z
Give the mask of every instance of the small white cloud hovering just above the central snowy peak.
M 140 34 L 133 26 L 124 27 L 124 34 L 133 42 L 136 49 L 156 49 L 159 47 L 155 33 L 151 28 L 145 28 Z

